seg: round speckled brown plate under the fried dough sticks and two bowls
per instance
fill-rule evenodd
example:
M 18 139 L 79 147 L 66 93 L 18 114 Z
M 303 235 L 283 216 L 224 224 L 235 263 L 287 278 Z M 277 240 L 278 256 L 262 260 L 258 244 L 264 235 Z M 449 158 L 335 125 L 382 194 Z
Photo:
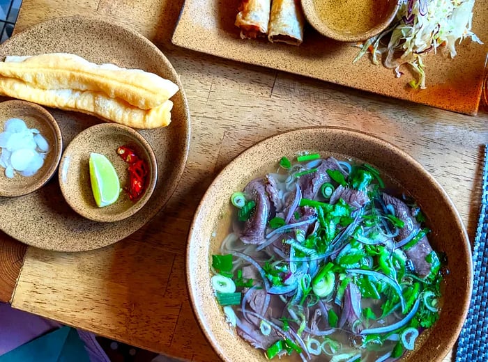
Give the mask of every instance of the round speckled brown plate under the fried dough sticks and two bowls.
M 66 203 L 57 178 L 20 198 L 0 198 L 0 228 L 26 244 L 55 251 L 84 251 L 113 244 L 148 222 L 169 200 L 183 173 L 190 142 L 190 115 L 181 81 L 167 58 L 146 38 L 116 24 L 84 17 L 54 19 L 17 34 L 0 47 L 0 57 L 70 52 L 96 63 L 140 68 L 171 79 L 180 91 L 171 98 L 171 124 L 140 133 L 151 144 L 160 175 L 148 203 L 130 222 L 98 223 L 79 216 Z M 82 113 L 49 109 L 63 143 L 101 123 Z

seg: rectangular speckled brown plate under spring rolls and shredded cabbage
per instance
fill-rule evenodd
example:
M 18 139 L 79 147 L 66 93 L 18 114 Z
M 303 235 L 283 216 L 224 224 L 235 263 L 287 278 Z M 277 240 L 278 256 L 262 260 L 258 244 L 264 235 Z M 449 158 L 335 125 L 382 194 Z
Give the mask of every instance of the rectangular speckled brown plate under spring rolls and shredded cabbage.
M 409 86 L 413 75 L 406 68 L 397 79 L 393 70 L 373 65 L 367 56 L 353 64 L 357 47 L 325 38 L 311 26 L 305 29 L 300 47 L 243 40 L 234 26 L 239 3 L 241 0 L 185 0 L 174 44 L 450 111 L 478 111 L 488 52 L 488 0 L 477 0 L 473 15 L 473 31 L 485 45 L 464 40 L 456 45 L 458 54 L 454 59 L 429 54 L 425 61 L 427 89 L 422 91 Z

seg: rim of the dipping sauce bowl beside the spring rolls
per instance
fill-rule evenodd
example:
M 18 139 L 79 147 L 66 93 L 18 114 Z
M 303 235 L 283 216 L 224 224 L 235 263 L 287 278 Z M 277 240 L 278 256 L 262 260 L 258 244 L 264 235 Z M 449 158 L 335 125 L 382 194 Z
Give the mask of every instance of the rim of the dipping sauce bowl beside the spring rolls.
M 317 12 L 314 9 L 314 1 L 315 0 L 300 0 L 305 19 L 307 19 L 307 22 L 323 36 L 338 40 L 340 42 L 360 42 L 378 35 L 379 33 L 381 33 L 381 31 L 385 30 L 388 25 L 391 24 L 393 19 L 395 19 L 395 16 L 397 15 L 398 9 L 400 7 L 399 1 L 390 0 L 396 1 L 396 6 L 388 14 L 388 17 L 383 20 L 383 22 L 377 24 L 371 29 L 368 29 L 367 31 L 364 31 L 363 33 L 347 34 L 341 33 L 340 31 L 335 31 L 334 29 L 327 26 L 326 23 L 321 20 L 319 15 L 317 15 Z

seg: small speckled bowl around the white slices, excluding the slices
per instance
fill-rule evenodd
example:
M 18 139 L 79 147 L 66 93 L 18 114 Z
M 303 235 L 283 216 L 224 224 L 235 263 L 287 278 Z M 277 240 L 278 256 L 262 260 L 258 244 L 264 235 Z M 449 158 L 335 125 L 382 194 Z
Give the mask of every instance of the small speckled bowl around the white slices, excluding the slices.
M 58 123 L 43 107 L 23 100 L 0 103 L 0 132 L 10 118 L 24 120 L 29 129 L 38 129 L 49 145 L 44 164 L 32 176 L 26 177 L 15 171 L 13 178 L 6 177 L 6 169 L 0 167 L 0 196 L 23 196 L 43 187 L 54 175 L 63 151 L 63 137 Z M 3 152 L 3 151 L 2 151 Z

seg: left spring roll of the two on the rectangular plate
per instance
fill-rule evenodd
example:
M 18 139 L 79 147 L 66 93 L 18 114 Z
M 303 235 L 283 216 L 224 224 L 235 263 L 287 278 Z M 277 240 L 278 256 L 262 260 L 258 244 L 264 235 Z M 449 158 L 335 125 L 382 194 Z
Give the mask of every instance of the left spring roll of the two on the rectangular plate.
M 242 0 L 236 17 L 241 38 L 255 39 L 268 34 L 271 0 Z

